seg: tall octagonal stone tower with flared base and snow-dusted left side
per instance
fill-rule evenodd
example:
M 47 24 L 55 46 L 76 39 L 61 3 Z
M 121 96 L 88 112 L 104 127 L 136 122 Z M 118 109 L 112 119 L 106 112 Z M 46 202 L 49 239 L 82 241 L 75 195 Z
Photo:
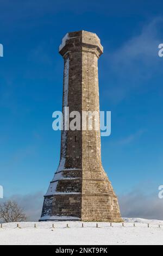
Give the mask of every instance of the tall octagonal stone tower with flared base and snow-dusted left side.
M 64 58 L 62 111 L 99 113 L 98 58 L 103 47 L 98 36 L 71 32 L 62 39 Z M 121 222 L 117 197 L 101 162 L 100 130 L 61 132 L 61 156 L 48 188 L 40 221 L 82 220 Z

